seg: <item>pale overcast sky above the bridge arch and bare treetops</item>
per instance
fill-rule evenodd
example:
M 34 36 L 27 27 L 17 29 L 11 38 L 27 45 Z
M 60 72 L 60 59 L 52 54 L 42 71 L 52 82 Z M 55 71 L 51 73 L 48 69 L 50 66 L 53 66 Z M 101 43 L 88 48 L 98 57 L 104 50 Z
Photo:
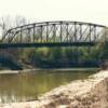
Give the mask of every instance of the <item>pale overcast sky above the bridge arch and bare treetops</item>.
M 31 22 L 79 21 L 108 26 L 108 0 L 0 0 L 0 17 L 22 15 Z

